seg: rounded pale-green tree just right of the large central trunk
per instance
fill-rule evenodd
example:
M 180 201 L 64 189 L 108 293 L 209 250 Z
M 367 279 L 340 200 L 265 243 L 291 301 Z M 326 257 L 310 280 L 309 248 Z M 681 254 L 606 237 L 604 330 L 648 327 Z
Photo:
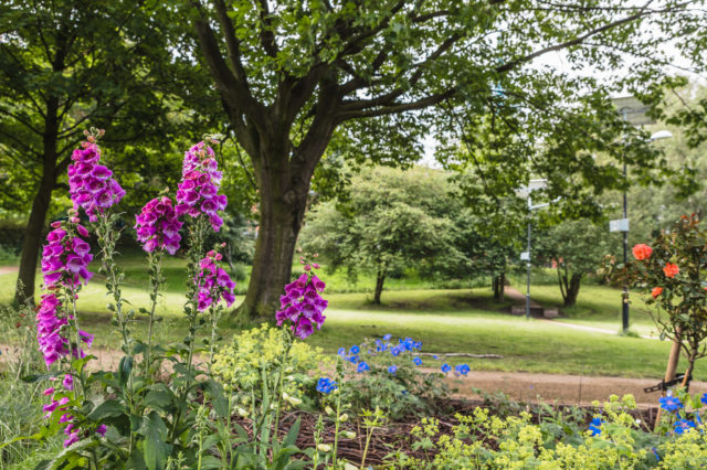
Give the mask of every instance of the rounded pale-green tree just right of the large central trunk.
M 434 170 L 367 169 L 351 180 L 350 199 L 313 209 L 302 246 L 320 253 L 331 268 L 376 274 L 373 303 L 380 303 L 391 271 L 444 269 L 461 254 L 454 247 L 446 177 Z M 458 263 L 458 261 L 456 261 Z

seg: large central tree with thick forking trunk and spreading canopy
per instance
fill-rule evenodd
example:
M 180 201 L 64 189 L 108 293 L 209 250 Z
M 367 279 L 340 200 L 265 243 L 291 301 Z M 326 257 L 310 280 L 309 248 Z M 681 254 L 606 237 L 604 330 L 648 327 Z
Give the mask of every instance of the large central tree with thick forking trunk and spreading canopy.
M 566 122 L 552 133 L 539 162 L 548 170 L 569 170 L 553 180 L 557 192 L 577 192 L 572 174 L 597 175 L 591 181 L 603 181 L 599 175 L 606 173 L 615 177 L 615 169 L 597 168 L 576 154 L 592 141 L 592 148 L 618 157 L 611 142 L 626 129 L 609 111 L 609 88 L 590 77 L 572 78 L 527 64 L 567 50 L 576 68 L 613 70 L 634 56 L 632 77 L 651 76 L 663 66 L 655 44 L 679 33 L 679 47 L 689 49 L 690 34 L 697 34 L 704 21 L 704 12 L 690 2 L 652 3 L 189 3 L 186 17 L 233 135 L 253 163 L 260 191 L 260 232 L 241 310 L 253 316 L 275 310 L 289 280 L 312 177 L 335 135 L 371 161 L 400 161 L 420 154 L 420 138 L 430 128 L 450 128 L 449 114 L 425 111 L 431 107 L 445 104 L 450 114 L 465 117 L 503 109 L 497 121 L 504 118 L 509 131 L 520 135 L 518 147 L 532 141 L 514 129 L 517 124 L 534 119 L 534 126 L 548 128 Z M 497 87 L 508 98 L 503 106 L 494 99 Z M 588 88 L 598 92 L 587 94 Z M 518 110 L 521 118 L 508 119 Z M 609 124 L 588 127 L 590 119 L 577 116 L 599 116 L 591 121 Z M 583 138 L 574 143 L 578 136 Z M 643 152 L 634 161 L 653 157 Z

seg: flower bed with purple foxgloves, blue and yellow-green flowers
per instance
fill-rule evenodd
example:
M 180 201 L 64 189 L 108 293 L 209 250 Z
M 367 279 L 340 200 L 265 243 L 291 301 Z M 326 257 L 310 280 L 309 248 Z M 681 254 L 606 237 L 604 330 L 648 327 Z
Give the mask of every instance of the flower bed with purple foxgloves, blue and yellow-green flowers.
M 646 419 L 636 412 L 631 396 L 612 397 L 594 408 L 450 400 L 443 378 L 471 380 L 473 372 L 466 364 L 447 363 L 437 372 L 424 372 L 423 345 L 411 338 L 363 339 L 341 348 L 334 359 L 324 357 L 305 342 L 319 332 L 328 306 L 323 297 L 326 285 L 316 275 L 319 266 L 305 257 L 304 274 L 284 286 L 277 328 L 246 331 L 224 348 L 219 320 L 234 301 L 234 282 L 220 266 L 223 244 L 207 247 L 205 241 L 223 224 L 219 213 L 228 201 L 219 194 L 222 177 L 207 142 L 186 152 L 176 203 L 166 190 L 136 215 L 134 228 L 147 253 L 150 306 L 133 308 L 123 296 L 124 275 L 114 263 L 120 215 L 113 205 L 125 192 L 101 163 L 102 135 L 93 130 L 74 151 L 68 167 L 74 206 L 66 221 L 52 224 L 42 252 L 45 292 L 36 309 L 36 338 L 46 371 L 25 378 L 48 385 L 45 426 L 28 438 L 63 435 L 65 449 L 38 468 L 707 463 L 707 395 L 678 391 L 664 397 L 665 413 L 652 430 L 654 415 Z M 89 223 L 82 225 L 86 217 Z M 123 357 L 114 371 L 87 367 L 94 359 L 93 335 L 78 325 L 82 286 L 92 277 L 87 265 L 94 254 L 86 243 L 92 233 L 107 279 L 107 308 L 123 340 Z M 181 343 L 158 344 L 152 327 L 165 282 L 161 263 L 180 249 L 189 259 L 183 311 L 189 328 Z M 635 253 L 639 260 L 664 267 L 666 291 L 654 290 L 654 297 L 667 298 L 667 289 L 676 286 L 671 282 L 682 281 L 689 269 L 683 260 L 684 268 L 664 263 L 667 257 L 652 255 L 647 246 Z M 701 287 L 695 292 L 699 302 L 707 298 Z M 130 334 L 140 316 L 148 323 L 146 341 Z M 678 319 L 679 338 L 686 338 L 686 320 Z

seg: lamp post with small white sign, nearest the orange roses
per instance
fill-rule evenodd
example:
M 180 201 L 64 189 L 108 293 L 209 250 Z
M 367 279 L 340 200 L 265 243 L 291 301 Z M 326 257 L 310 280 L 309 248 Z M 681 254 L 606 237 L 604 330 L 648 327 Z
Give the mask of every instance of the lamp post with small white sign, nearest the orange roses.
M 644 126 L 647 124 L 654 124 L 653 118 L 646 116 L 648 109 L 643 103 L 639 102 L 633 96 L 626 96 L 613 99 L 614 106 L 619 110 L 619 114 L 623 117 L 623 120 L 633 126 Z M 648 141 L 667 139 L 673 137 L 669 130 L 661 130 L 651 136 Z M 627 177 L 626 160 L 623 159 L 623 178 Z M 610 232 L 623 232 L 623 264 L 629 263 L 629 199 L 626 196 L 626 190 L 623 191 L 623 218 L 611 221 L 609 224 Z M 629 285 L 624 282 L 623 292 L 621 296 L 621 324 L 623 332 L 629 331 Z

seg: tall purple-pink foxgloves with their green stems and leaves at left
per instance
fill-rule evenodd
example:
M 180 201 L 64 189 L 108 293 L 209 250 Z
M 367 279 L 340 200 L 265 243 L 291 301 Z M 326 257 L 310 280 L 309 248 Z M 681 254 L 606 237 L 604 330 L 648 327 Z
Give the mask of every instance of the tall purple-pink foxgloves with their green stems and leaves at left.
M 97 140 L 103 131 L 92 129 L 87 140 L 72 156 L 68 167 L 70 194 L 74 203 L 66 222 L 52 224 L 43 249 L 42 273 L 45 292 L 36 312 L 38 341 L 48 373 L 27 377 L 48 381 L 44 392 L 46 426 L 32 438 L 42 439 L 64 432 L 65 450 L 43 468 L 146 468 L 163 469 L 168 462 L 188 468 L 242 468 L 243 466 L 292 468 L 292 456 L 307 453 L 294 446 L 296 424 L 281 442 L 277 429 L 282 402 L 284 367 L 263 391 L 262 413 L 254 435 L 231 423 L 232 399 L 212 378 L 211 365 L 217 352 L 218 321 L 224 305 L 233 303 L 234 282 L 220 266 L 223 245 L 207 250 L 205 241 L 218 232 L 220 212 L 226 197 L 219 194 L 221 172 L 215 156 L 205 142 L 190 148 L 184 156 L 182 180 L 176 201 L 167 191 L 149 201 L 137 214 L 137 239 L 148 256 L 150 307 L 138 310 L 124 298 L 124 274 L 115 263 L 120 215 L 113 205 L 125 191 L 112 171 L 101 162 Z M 88 217 L 88 227 L 81 224 Z M 180 249 L 182 225 L 187 225 L 188 289 L 184 314 L 188 332 L 181 344 L 155 344 L 155 308 L 165 278 L 161 261 Z M 77 301 L 82 286 L 92 274 L 93 260 L 87 238 L 96 236 L 106 276 L 108 309 L 122 338 L 116 371 L 91 372 L 86 364 L 94 357 L 84 351 L 93 335 L 78 325 Z M 281 364 L 287 362 L 295 335 L 306 338 L 324 322 L 326 301 L 319 296 L 321 282 L 309 271 L 287 286 L 281 323 L 284 350 Z M 130 329 L 144 316 L 148 334 L 145 342 L 131 337 Z M 208 357 L 197 364 L 197 357 Z M 165 362 L 169 366 L 163 366 Z M 166 371 L 171 371 L 168 377 Z

